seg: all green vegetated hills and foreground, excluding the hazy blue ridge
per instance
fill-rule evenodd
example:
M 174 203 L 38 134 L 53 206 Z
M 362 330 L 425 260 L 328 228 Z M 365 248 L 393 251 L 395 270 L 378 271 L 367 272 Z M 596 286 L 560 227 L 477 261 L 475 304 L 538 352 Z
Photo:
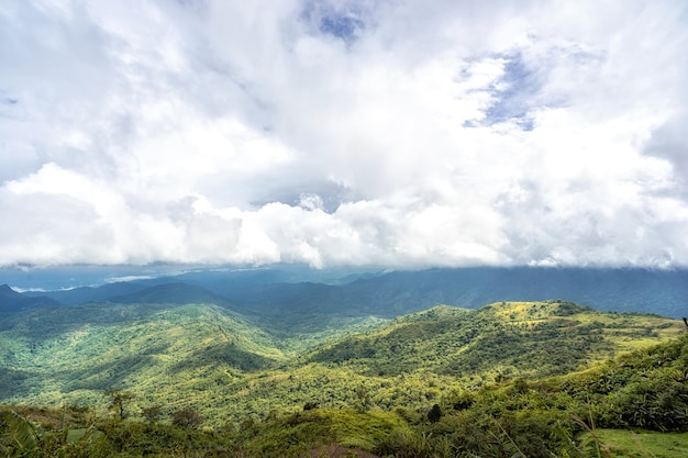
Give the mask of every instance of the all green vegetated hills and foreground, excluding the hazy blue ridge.
M 0 456 L 585 458 L 686 447 L 688 333 L 655 315 L 564 301 L 439 306 L 293 354 L 221 308 L 110 304 L 89 316 L 96 308 L 64 325 L 35 311 L 0 325 L 0 377 L 18 382 L 0 407 Z

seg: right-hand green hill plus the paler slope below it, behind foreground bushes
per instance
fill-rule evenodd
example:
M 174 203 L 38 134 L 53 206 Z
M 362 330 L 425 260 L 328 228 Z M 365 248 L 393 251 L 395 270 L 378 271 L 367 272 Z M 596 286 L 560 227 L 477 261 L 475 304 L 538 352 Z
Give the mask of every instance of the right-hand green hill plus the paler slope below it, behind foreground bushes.
M 556 301 L 496 303 L 478 311 L 436 306 L 220 388 L 228 400 L 222 415 L 260 417 L 309 403 L 423 411 L 496 380 L 586 369 L 666 342 L 683 327 L 655 315 L 600 313 Z

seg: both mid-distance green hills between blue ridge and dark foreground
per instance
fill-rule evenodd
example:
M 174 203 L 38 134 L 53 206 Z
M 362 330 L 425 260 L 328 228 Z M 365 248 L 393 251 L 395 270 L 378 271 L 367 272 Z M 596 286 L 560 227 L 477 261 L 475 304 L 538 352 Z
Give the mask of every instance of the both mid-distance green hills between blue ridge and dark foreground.
M 148 297 L 169 292 L 152 290 Z M 371 402 L 386 405 L 397 392 L 415 405 L 418 390 L 442 396 L 457 383 L 564 373 L 683 328 L 674 320 L 564 301 L 439 306 L 392 322 L 330 325 L 336 332 L 297 327 L 280 336 L 259 320 L 201 303 L 89 303 L 4 314 L 0 403 L 101 404 L 102 393 L 118 388 L 135 392 L 137 405 L 192 403 L 217 422 L 308 402 L 351 406 L 357 402 L 352 387 L 373 383 L 381 391 Z

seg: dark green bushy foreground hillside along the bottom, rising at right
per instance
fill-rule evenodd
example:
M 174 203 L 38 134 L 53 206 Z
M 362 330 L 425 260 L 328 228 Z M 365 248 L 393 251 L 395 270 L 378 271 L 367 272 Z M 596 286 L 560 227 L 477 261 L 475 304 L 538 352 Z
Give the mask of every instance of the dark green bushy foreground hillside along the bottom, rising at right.
M 385 384 L 368 377 L 348 384 L 348 406 L 310 402 L 213 428 L 192 407 L 136 411 L 133 392 L 115 391 L 106 393 L 110 413 L 90 405 L 0 409 L 0 450 L 8 457 L 92 458 L 679 458 L 688 451 L 686 367 L 683 333 L 563 376 L 471 387 L 424 373 L 413 378 L 415 404 L 392 395 L 389 406 L 380 406 L 376 392 L 395 392 L 402 379 Z M 301 389 L 312 380 L 301 379 Z

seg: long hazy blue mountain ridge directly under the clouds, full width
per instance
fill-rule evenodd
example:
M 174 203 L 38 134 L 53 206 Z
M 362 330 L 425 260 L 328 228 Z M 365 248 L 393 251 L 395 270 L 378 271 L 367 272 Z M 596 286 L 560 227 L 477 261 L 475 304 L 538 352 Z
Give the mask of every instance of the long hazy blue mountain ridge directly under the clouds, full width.
M 604 311 L 670 317 L 688 314 L 688 270 L 486 267 L 347 275 L 341 281 L 331 278 L 328 282 L 297 282 L 296 279 L 271 270 L 207 275 L 195 271 L 99 288 L 16 293 L 19 297 L 7 293 L 0 295 L 0 311 L 18 310 L 14 301 L 20 298 L 24 298 L 25 306 L 36 306 L 35 299 L 44 297 L 65 305 L 186 301 L 232 304 L 242 313 L 251 314 L 288 312 L 392 317 L 436 304 L 473 309 L 498 301 L 564 299 Z M 33 298 L 34 302 L 27 298 Z

